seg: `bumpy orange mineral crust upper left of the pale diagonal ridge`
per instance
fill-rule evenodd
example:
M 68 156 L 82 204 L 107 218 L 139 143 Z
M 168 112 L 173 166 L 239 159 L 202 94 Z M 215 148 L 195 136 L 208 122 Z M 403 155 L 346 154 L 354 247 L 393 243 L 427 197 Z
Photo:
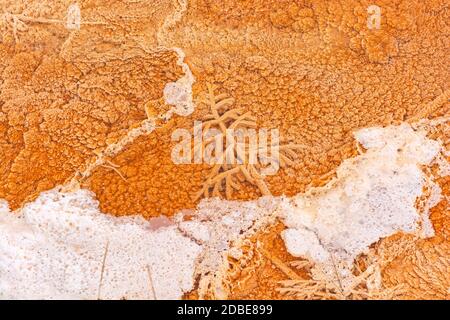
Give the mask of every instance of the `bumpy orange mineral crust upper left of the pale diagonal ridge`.
M 181 71 L 173 52 L 147 52 L 134 40 L 132 26 L 141 23 L 107 23 L 116 11 L 106 3 L 95 9 L 85 3 L 88 21 L 108 14 L 104 23 L 76 32 L 39 23 L 63 19 L 65 2 L 0 3 L 2 12 L 18 15 L 27 26 L 19 32 L 13 18 L 0 20 L 0 197 L 13 208 L 82 171 L 96 152 L 145 118 L 143 105 L 160 98 Z

